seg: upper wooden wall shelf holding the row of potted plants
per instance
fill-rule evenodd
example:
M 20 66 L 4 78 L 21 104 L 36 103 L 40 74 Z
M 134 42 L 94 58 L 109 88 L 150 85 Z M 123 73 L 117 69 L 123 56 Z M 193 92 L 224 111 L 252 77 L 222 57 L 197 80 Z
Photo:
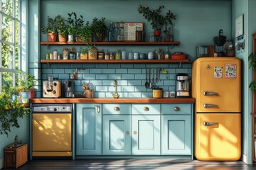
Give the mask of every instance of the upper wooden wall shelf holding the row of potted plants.
M 93 45 L 179 45 L 178 41 L 169 41 L 169 42 L 137 42 L 137 41 L 102 41 L 102 42 L 90 42 Z M 87 45 L 86 42 L 48 42 L 43 41 L 41 45 Z

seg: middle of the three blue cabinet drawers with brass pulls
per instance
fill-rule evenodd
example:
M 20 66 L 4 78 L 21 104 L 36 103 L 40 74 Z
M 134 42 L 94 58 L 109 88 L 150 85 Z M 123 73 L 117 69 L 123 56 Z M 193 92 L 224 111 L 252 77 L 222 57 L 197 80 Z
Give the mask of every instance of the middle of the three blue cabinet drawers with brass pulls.
M 159 115 L 160 104 L 132 104 L 132 115 Z

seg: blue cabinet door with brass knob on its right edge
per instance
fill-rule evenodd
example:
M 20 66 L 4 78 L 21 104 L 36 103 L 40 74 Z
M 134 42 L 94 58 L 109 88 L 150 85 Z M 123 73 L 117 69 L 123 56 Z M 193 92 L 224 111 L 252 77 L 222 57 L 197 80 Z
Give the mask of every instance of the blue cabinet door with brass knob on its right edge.
M 102 154 L 131 154 L 131 115 L 103 115 Z

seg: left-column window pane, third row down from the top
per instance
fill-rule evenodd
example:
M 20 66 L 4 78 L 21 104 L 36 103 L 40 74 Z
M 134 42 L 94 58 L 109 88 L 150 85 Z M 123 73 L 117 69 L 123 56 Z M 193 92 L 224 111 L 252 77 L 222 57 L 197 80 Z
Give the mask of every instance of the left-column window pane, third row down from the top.
M 14 57 L 13 57 L 13 46 L 2 43 L 1 51 L 2 67 L 13 69 Z

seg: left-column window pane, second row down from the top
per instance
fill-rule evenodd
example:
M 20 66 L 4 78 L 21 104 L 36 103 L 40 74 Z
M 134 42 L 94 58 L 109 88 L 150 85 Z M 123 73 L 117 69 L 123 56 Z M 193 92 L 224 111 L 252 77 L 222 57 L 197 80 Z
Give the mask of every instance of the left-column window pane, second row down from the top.
M 13 42 L 13 22 L 11 18 L 4 16 L 2 21 L 2 40 Z

